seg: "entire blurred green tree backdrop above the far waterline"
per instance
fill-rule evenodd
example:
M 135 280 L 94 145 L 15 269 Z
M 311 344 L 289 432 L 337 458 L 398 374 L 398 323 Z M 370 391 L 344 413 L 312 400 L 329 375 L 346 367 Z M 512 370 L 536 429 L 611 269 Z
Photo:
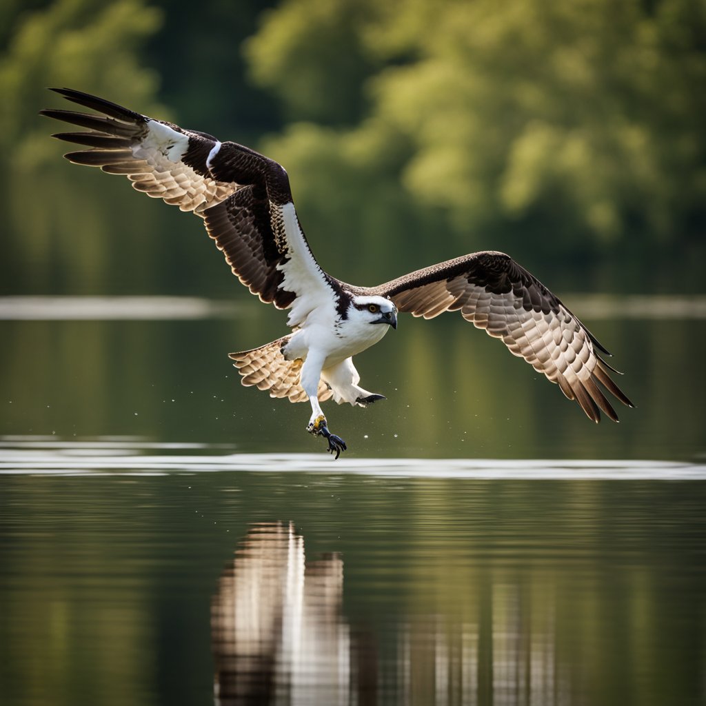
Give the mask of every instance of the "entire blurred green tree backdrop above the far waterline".
M 500 249 L 560 290 L 577 273 L 586 289 L 702 289 L 702 2 L 207 0 L 177 11 L 169 0 L 8 0 L 0 13 L 3 259 L 19 258 L 0 275 L 11 291 L 35 288 L 30 269 L 54 267 L 57 247 L 67 263 L 85 251 L 73 285 L 54 280 L 59 292 L 100 288 L 97 265 L 128 268 L 140 251 L 145 271 L 170 268 L 165 278 L 183 282 L 175 275 L 198 249 L 182 257 L 173 237 L 170 262 L 157 260 L 164 242 L 145 249 L 140 214 L 157 231 L 177 221 L 127 192 L 136 215 L 122 212 L 120 252 L 90 262 L 100 246 L 89 241 L 104 237 L 95 223 L 126 184 L 61 163 L 36 116 L 61 103 L 47 85 L 275 157 L 322 265 L 352 282 Z M 48 213 L 31 218 L 42 245 L 27 246 L 40 171 Z M 52 187 L 69 179 L 73 195 Z M 55 192 L 66 201 L 52 205 Z M 76 217 L 84 209 L 90 217 Z M 54 210 L 67 220 L 54 222 Z M 220 291 L 197 270 L 194 289 Z

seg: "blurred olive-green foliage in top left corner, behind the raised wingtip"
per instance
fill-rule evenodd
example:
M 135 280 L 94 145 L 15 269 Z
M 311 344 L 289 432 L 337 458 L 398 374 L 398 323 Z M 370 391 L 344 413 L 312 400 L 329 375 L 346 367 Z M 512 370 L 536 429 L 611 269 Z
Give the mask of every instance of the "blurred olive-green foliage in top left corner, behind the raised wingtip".
M 0 56 L 0 140 L 13 169 L 35 172 L 56 159 L 47 121 L 37 119 L 49 100 L 40 88 L 80 88 L 166 114 L 154 100 L 159 76 L 136 54 L 161 18 L 142 0 L 56 0 L 15 16 Z

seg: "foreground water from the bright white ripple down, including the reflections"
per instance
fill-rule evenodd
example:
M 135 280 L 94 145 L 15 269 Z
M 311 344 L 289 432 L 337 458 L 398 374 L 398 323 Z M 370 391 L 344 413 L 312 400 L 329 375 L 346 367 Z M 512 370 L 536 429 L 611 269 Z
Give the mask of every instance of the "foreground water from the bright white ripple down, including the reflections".
M 6 439 L 3 702 L 702 702 L 706 467 L 321 458 Z

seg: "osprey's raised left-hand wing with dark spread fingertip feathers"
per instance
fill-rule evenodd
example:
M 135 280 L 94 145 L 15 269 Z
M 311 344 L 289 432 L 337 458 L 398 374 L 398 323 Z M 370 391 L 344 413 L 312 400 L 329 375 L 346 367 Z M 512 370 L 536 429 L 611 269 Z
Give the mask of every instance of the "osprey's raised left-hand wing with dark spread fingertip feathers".
M 280 164 L 233 142 L 149 118 L 88 93 L 54 88 L 99 114 L 47 109 L 50 118 L 88 128 L 54 137 L 88 147 L 70 162 L 124 174 L 133 188 L 203 217 L 239 280 L 262 301 L 292 308 L 297 325 L 321 297 L 337 299 L 337 280 L 309 249 Z

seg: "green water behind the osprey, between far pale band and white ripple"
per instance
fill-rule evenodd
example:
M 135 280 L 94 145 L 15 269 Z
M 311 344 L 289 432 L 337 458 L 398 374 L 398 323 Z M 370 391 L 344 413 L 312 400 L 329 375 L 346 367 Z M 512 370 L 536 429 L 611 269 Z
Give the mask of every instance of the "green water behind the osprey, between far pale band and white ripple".
M 227 357 L 286 332 L 285 313 L 251 299 L 0 299 L 0 431 L 318 452 L 323 441 L 304 433 L 307 405 L 242 388 Z M 616 402 L 620 424 L 587 421 L 557 385 L 459 316 L 403 317 L 356 358 L 361 384 L 387 399 L 369 409 L 325 405 L 347 455 L 706 457 L 705 300 L 566 300 L 626 373 L 619 383 L 637 409 Z

